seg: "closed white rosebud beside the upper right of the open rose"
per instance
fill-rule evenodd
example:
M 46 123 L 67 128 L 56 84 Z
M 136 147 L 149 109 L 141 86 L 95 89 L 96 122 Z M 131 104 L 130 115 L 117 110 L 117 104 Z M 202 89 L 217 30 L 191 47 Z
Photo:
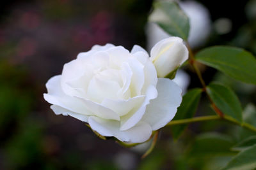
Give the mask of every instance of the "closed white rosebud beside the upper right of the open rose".
M 179 37 L 162 39 L 150 52 L 157 76 L 164 77 L 188 60 L 188 49 Z

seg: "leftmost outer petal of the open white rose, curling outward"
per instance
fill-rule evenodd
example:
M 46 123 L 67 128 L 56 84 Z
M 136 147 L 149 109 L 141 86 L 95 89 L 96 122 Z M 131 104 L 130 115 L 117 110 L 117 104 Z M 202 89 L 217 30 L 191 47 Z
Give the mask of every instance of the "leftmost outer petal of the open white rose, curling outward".
M 76 97 L 67 96 L 67 94 L 62 91 L 60 81 L 61 75 L 53 76 L 47 81 L 46 88 L 48 90 L 48 94 L 44 94 L 45 101 L 75 113 L 92 115 L 92 113 L 86 109 L 83 102 L 76 99 Z

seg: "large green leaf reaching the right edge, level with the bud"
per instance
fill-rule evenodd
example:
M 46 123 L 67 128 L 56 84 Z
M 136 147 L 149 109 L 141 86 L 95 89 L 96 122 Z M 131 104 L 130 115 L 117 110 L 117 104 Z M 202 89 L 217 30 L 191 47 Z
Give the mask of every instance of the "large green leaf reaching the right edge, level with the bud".
M 212 46 L 198 52 L 196 60 L 236 80 L 256 84 L 256 59 L 241 48 Z

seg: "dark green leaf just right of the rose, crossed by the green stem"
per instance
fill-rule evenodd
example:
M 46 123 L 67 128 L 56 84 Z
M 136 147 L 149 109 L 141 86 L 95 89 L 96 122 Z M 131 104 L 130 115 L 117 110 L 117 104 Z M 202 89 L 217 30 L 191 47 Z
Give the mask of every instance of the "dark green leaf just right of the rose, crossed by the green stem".
M 180 104 L 177 113 L 173 120 L 180 120 L 184 118 L 191 118 L 195 115 L 196 108 L 198 106 L 200 96 L 202 90 L 201 89 L 192 89 L 187 92 L 182 99 L 182 103 Z M 188 125 L 175 125 L 172 127 L 173 138 L 177 139 L 182 134 L 182 132 L 186 129 Z

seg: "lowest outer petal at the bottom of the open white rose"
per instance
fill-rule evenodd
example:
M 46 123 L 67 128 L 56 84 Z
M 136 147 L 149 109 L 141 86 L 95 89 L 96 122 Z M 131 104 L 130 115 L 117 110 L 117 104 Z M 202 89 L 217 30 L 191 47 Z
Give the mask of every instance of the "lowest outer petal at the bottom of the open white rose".
M 150 125 L 140 122 L 127 131 L 120 131 L 120 122 L 115 120 L 104 120 L 99 117 L 89 117 L 88 123 L 94 131 L 102 136 L 114 136 L 120 141 L 141 143 L 147 141 L 152 134 Z

